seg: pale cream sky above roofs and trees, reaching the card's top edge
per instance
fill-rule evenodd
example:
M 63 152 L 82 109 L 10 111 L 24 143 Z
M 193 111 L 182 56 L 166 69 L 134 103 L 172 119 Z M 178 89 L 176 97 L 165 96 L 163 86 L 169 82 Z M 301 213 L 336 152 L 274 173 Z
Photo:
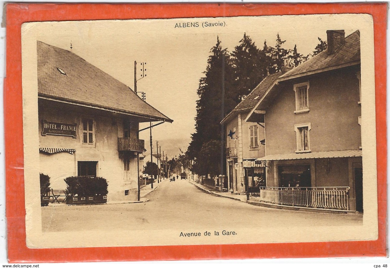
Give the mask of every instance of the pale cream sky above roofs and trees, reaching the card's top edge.
M 199 27 L 178 27 L 197 22 Z M 225 26 L 202 27 L 204 23 Z M 138 80 L 138 92 L 146 101 L 168 116 L 152 130 L 153 145 L 159 141 L 170 154 L 186 150 L 195 132 L 199 79 L 206 70 L 210 50 L 217 35 L 229 52 L 239 44 L 244 32 L 262 48 L 264 41 L 274 46 L 276 35 L 286 40 L 284 48 L 312 53 L 326 40 L 326 30 L 344 29 L 346 35 L 357 30 L 343 15 L 261 16 L 232 18 L 151 19 L 114 21 L 46 22 L 39 41 L 70 50 L 122 83 L 134 88 L 134 61 L 146 62 L 147 76 Z M 175 27 L 176 26 L 176 27 Z M 35 25 L 36 27 L 36 25 Z M 138 65 L 138 75 L 141 66 Z M 138 76 L 140 78 L 140 76 Z M 141 124 L 140 128 L 149 124 Z M 140 132 L 149 144 L 149 131 Z M 168 148 L 169 147 L 169 148 Z M 149 148 L 147 148 L 149 149 Z M 155 152 L 155 148 L 153 149 Z M 162 148 L 164 150 L 164 148 Z

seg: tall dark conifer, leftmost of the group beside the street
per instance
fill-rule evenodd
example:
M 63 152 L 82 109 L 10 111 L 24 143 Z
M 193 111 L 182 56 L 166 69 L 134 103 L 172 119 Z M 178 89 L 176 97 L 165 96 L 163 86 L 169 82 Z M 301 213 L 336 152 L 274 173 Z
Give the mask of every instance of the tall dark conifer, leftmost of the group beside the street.
M 207 63 L 204 77 L 200 78 L 197 91 L 199 100 L 197 100 L 195 133 L 192 134 L 191 143 L 187 149 L 188 157 L 195 160 L 193 171 L 206 176 L 220 172 L 220 170 L 216 170 L 220 164 L 220 157 L 209 158 L 202 152 L 210 152 L 209 147 L 213 147 L 217 153 L 220 152 L 223 144 L 221 141 L 225 136 L 221 137 L 220 122 L 228 111 L 237 104 L 237 101 L 229 97 L 232 92 L 231 77 L 234 74 L 232 62 L 227 50 L 222 49 L 218 37 L 216 45 L 211 49 Z M 225 92 L 222 92 L 223 89 Z M 222 95 L 224 95 L 223 105 Z M 217 141 L 219 147 L 216 148 L 216 143 L 212 141 Z

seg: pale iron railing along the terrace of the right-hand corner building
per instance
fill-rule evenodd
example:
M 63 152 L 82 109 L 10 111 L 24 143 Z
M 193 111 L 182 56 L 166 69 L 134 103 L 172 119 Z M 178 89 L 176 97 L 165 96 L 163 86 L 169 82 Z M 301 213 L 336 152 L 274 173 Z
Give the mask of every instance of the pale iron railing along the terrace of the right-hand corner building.
M 248 192 L 276 205 L 349 210 L 349 187 L 248 187 Z

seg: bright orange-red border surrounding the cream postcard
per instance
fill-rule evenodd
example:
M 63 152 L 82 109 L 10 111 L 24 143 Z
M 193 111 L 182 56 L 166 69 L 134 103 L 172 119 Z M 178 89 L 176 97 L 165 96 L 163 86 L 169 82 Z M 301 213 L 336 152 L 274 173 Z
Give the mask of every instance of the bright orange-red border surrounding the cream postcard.
M 4 129 L 10 263 L 386 256 L 386 3 L 7 4 Z M 21 25 L 31 21 L 366 13 L 374 19 L 378 228 L 375 241 L 29 249 L 23 172 Z M 147 254 L 145 253 L 147 252 Z

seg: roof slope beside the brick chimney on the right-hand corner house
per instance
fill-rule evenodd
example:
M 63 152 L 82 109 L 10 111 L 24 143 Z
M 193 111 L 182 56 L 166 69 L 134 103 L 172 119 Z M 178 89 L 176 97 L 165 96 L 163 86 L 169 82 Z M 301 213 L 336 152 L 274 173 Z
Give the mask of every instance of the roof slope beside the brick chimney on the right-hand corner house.
M 280 77 L 280 80 L 290 76 L 302 76 L 310 72 L 329 69 L 332 67 L 353 64 L 360 61 L 360 32 L 351 33 L 345 38 L 345 43 L 332 54 L 328 49 L 303 62 Z

